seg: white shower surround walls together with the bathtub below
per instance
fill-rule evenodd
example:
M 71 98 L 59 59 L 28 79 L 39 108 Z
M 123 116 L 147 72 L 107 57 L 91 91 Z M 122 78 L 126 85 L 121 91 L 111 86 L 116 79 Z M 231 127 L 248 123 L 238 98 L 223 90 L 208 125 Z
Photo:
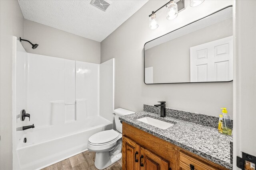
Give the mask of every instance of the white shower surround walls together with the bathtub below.
M 14 170 L 44 168 L 83 152 L 91 135 L 112 128 L 114 59 L 94 64 L 36 55 L 16 37 L 13 42 Z M 21 121 L 22 109 L 30 121 Z

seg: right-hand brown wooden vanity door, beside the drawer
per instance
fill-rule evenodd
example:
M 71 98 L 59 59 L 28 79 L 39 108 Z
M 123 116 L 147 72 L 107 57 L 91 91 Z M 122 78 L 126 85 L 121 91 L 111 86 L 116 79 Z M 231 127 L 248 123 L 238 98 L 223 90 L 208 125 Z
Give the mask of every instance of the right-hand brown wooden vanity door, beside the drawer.
M 150 152 L 143 147 L 140 147 L 140 170 L 168 170 L 169 163 Z

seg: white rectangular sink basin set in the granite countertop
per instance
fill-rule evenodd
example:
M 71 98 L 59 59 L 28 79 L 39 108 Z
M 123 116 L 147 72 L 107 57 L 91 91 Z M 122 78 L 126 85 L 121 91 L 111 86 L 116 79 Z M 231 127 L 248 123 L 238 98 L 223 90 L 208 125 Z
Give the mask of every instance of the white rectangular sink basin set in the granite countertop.
M 154 127 L 158 127 L 160 129 L 167 129 L 167 128 L 174 125 L 172 123 L 168 123 L 168 122 L 165 122 L 165 121 L 154 119 L 152 117 L 142 117 L 142 118 L 136 119 L 136 120 L 142 121 L 144 123 L 147 123 L 147 124 L 152 125 Z

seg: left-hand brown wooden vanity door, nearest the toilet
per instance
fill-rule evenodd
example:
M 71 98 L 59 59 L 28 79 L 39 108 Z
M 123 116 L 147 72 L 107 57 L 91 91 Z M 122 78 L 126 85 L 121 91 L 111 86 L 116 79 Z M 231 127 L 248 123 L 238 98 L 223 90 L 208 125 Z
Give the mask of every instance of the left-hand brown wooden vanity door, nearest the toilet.
M 122 170 L 139 170 L 140 145 L 124 136 L 122 140 Z

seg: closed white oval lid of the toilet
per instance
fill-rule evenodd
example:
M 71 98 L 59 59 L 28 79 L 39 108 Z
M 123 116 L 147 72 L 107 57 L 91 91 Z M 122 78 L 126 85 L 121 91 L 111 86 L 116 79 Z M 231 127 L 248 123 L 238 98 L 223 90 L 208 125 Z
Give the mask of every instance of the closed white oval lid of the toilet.
M 119 133 L 117 133 L 113 129 L 108 131 L 101 131 L 89 137 L 89 142 L 94 144 L 108 143 L 118 138 L 118 136 Z

